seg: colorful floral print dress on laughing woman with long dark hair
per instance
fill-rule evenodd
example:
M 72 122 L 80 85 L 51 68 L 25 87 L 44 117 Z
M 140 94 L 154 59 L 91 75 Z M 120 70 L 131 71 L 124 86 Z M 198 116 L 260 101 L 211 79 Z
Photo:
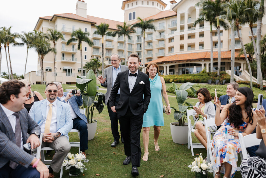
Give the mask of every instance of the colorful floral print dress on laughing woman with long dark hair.
M 226 121 L 228 121 L 228 117 L 226 118 Z M 242 133 L 246 130 L 247 125 L 247 122 L 243 122 L 243 124 L 239 125 L 238 129 L 235 128 L 233 124 L 230 126 L 235 129 L 236 133 Z M 241 147 L 238 137 L 229 140 L 225 138 L 225 127 L 226 123 L 217 130 L 213 137 L 213 169 L 214 172 L 218 172 L 221 163 L 227 162 L 232 165 L 231 177 L 234 177 L 235 172 L 237 171 L 237 154 L 241 152 Z M 221 173 L 225 173 L 224 164 L 221 168 Z

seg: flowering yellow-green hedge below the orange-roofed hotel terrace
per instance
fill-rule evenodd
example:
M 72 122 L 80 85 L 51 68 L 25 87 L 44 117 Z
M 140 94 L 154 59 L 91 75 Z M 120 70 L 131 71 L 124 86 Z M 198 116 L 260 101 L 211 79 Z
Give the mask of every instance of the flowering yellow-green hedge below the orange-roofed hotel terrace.
M 207 72 L 207 73 L 198 73 L 198 74 L 182 74 L 182 75 L 167 75 L 162 76 L 164 78 L 165 83 L 185 83 L 185 82 L 193 82 L 193 83 L 208 83 L 208 80 L 211 79 L 212 83 L 215 83 L 215 80 L 219 80 L 222 82 L 226 80 L 226 83 L 230 82 L 230 75 L 226 72 L 222 71 L 221 75 L 218 77 L 217 72 Z

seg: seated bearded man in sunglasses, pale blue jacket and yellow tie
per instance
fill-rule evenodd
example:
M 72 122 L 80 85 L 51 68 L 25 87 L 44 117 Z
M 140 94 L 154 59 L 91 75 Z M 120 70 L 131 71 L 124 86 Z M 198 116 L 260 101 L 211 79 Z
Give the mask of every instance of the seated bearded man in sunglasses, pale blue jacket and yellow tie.
M 68 132 L 72 129 L 73 120 L 69 105 L 57 100 L 58 89 L 54 83 L 48 83 L 45 91 L 46 100 L 34 102 L 29 112 L 43 133 L 41 147 L 55 149 L 49 169 L 49 177 L 54 172 L 59 172 L 64 158 L 70 150 Z

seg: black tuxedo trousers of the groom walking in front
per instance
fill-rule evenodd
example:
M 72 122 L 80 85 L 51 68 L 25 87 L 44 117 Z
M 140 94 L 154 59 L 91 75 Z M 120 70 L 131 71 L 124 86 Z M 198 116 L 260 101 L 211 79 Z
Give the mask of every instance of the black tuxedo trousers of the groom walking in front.
M 118 113 L 120 126 L 124 138 L 125 155 L 131 156 L 132 166 L 140 167 L 141 149 L 140 149 L 140 132 L 142 129 L 144 110 L 137 116 L 133 115 L 128 107 L 124 116 Z

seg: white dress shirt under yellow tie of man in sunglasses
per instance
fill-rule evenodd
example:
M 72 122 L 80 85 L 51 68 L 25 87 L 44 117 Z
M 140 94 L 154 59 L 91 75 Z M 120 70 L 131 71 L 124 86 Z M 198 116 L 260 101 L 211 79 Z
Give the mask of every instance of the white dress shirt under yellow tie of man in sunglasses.
M 46 122 L 46 119 L 47 119 L 47 114 L 48 114 L 49 109 L 50 109 L 50 106 L 49 106 L 50 103 L 51 102 L 46 99 L 46 114 L 45 114 L 45 120 L 40 125 L 41 133 L 44 133 L 44 127 L 45 127 L 45 122 Z M 52 105 L 52 119 L 51 119 L 51 125 L 50 125 L 50 132 L 51 133 L 56 133 L 57 132 L 57 119 L 56 119 L 57 99 L 54 102 L 52 102 L 52 104 L 53 105 Z M 61 135 L 62 135 L 62 133 L 61 133 Z

